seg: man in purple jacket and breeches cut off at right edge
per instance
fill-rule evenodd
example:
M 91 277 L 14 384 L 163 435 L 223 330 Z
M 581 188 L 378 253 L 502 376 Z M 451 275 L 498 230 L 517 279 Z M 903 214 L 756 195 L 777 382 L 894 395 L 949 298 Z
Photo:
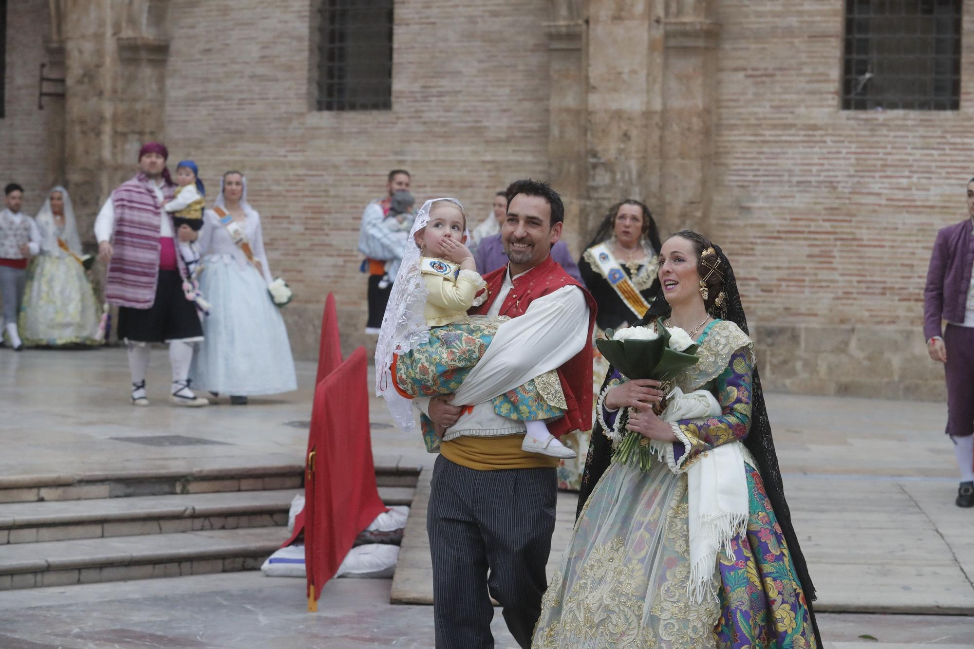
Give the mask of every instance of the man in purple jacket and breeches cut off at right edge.
M 967 183 L 967 213 L 937 233 L 923 290 L 927 351 L 947 374 L 947 434 L 960 469 L 957 507 L 974 507 L 974 178 Z

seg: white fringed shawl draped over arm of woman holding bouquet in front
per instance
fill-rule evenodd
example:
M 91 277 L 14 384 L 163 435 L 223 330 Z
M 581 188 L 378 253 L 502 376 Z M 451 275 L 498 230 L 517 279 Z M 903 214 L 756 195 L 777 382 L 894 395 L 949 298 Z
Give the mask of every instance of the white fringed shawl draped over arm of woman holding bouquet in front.
M 688 444 L 680 427 L 674 422 L 703 419 L 721 414 L 721 404 L 707 390 L 685 395 L 680 388 L 670 393 L 670 401 L 659 418 L 671 422 L 676 436 Z M 739 441 L 721 444 L 704 451 L 689 468 L 674 459 L 673 444 L 653 441 L 654 450 L 673 473 L 687 474 L 690 504 L 690 584 L 693 601 L 703 600 L 705 594 L 716 595 L 712 577 L 717 566 L 717 553 L 724 549 L 731 554 L 731 539 L 747 529 L 749 498 L 744 463 L 750 453 Z

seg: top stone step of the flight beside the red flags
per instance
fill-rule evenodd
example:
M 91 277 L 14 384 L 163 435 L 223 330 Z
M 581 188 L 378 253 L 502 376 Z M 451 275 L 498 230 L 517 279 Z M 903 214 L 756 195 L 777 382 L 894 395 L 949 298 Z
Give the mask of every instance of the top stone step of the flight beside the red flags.
M 411 487 L 419 469 L 377 465 L 375 473 L 379 486 Z M 303 484 L 301 465 L 4 476 L 0 477 L 0 503 L 300 489 Z

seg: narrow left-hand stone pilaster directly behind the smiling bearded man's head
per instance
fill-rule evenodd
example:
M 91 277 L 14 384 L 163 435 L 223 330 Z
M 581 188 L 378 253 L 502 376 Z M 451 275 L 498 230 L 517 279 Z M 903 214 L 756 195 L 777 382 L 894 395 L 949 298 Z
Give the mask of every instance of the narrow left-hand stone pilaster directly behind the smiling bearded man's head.
M 548 180 L 565 203 L 562 239 L 578 256 L 580 238 L 588 231 L 582 210 L 587 184 L 585 140 L 587 132 L 586 56 L 583 0 L 555 0 L 548 35 L 550 102 L 548 118 Z

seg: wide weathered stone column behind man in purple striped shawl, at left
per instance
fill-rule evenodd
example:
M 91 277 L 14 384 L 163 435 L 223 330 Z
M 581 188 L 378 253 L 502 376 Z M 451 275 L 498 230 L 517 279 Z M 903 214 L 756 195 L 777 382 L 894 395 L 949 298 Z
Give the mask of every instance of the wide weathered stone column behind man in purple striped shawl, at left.
M 82 238 L 131 176 L 142 141 L 164 137 L 169 0 L 55 0 L 65 72 L 65 175 Z

